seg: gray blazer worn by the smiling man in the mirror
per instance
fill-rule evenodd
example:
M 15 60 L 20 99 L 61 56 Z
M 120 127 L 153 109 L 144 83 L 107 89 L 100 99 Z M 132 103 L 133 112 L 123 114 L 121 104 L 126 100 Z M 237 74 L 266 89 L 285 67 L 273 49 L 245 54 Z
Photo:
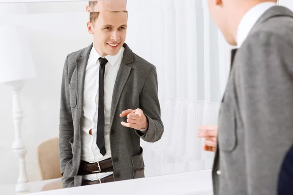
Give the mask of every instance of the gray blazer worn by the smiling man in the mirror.
M 157 73 L 154 65 L 134 54 L 127 44 L 114 85 L 110 116 L 110 147 L 115 181 L 144 177 L 143 149 L 140 138 L 159 140 L 164 132 L 160 117 Z M 92 44 L 69 54 L 65 60 L 61 89 L 59 158 L 63 188 L 80 186 L 77 176 L 81 162 L 84 76 Z M 141 108 L 148 127 L 142 134 L 121 125 L 126 109 Z

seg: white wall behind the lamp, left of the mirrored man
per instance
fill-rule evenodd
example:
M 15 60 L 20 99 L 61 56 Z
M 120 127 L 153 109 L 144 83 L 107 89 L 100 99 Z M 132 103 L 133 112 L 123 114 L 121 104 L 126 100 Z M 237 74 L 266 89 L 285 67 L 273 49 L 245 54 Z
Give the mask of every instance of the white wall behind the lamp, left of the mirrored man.
M 28 10 L 41 7 L 36 4 L 29 4 Z M 40 179 L 36 157 L 37 146 L 43 140 L 58 136 L 60 83 L 65 57 L 68 53 L 89 45 L 91 37 L 85 28 L 88 18 L 86 12 L 50 14 L 31 14 L 31 12 L 34 11 L 29 11 L 29 15 L 9 16 L 9 20 L 2 16 L 0 25 L 14 23 L 29 29 L 29 41 L 37 78 L 27 81 L 21 91 L 24 111 L 22 136 L 27 147 L 28 177 L 30 181 L 34 181 Z M 18 158 L 11 149 L 15 135 L 11 118 L 11 94 L 2 83 L 0 94 L 2 111 L 0 113 L 2 124 L 0 173 L 5 175 L 1 177 L 0 183 L 10 184 L 17 181 L 19 167 Z

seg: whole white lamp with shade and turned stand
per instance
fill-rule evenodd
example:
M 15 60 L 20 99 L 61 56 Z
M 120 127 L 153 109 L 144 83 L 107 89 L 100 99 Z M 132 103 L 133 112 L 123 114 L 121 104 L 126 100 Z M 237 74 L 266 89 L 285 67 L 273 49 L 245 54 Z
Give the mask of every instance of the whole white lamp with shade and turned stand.
M 0 26 L 0 82 L 12 89 L 12 118 L 15 128 L 12 149 L 19 158 L 19 177 L 15 189 L 18 194 L 29 192 L 26 185 L 26 148 L 21 138 L 23 112 L 20 91 L 26 79 L 36 77 L 28 38 L 23 29 L 20 26 Z

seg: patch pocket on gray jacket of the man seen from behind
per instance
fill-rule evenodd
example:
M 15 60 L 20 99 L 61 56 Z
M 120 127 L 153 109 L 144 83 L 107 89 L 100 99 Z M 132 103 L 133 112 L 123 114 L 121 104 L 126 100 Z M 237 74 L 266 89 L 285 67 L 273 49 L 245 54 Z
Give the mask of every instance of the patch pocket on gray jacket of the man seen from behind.
M 218 141 L 219 150 L 232 152 L 237 143 L 236 118 L 232 104 L 223 102 L 220 110 Z

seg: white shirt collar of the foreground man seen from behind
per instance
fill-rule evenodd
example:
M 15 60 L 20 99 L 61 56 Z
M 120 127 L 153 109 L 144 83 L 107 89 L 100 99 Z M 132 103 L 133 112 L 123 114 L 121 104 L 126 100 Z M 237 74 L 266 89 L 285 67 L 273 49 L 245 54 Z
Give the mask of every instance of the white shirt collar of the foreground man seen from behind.
M 263 2 L 252 7 L 242 18 L 237 30 L 237 47 L 241 47 L 254 24 L 271 7 L 276 6 L 274 2 Z

